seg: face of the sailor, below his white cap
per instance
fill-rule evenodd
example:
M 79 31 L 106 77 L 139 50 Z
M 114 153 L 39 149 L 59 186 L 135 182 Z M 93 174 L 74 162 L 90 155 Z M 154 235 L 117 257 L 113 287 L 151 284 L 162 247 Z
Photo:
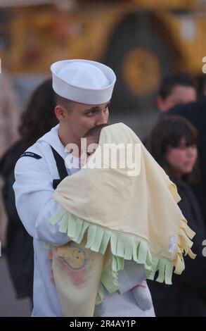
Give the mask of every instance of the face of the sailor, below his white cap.
M 109 104 L 110 101 L 101 105 L 75 104 L 72 111 L 67 112 L 65 131 L 70 133 L 73 142 L 78 144 L 92 127 L 108 123 Z

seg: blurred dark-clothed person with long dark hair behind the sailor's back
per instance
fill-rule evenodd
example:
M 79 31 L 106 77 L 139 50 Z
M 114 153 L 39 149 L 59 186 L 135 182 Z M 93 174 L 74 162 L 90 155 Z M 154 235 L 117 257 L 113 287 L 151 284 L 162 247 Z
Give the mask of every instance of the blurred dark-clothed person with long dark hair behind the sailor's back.
M 4 180 L 3 198 L 8 216 L 6 258 L 18 299 L 26 296 L 32 299 L 34 252 L 32 237 L 23 227 L 15 208 L 14 167 L 27 147 L 57 124 L 54 107 L 53 89 L 49 79 L 33 92 L 25 112 L 22 113 L 20 139 L 1 156 L 0 160 L 0 175 Z

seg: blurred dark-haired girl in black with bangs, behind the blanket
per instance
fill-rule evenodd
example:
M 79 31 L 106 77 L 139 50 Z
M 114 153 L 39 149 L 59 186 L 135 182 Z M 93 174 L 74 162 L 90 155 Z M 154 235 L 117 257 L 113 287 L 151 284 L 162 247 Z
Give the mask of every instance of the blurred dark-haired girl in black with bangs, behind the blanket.
M 155 161 L 176 184 L 181 201 L 179 207 L 196 232 L 193 263 L 185 258 L 186 270 L 181 277 L 174 275 L 173 285 L 148 282 L 156 316 L 206 316 L 206 259 L 202 256 L 202 241 L 206 226 L 198 201 L 193 194 L 192 182 L 197 180 L 196 161 L 198 132 L 188 120 L 165 115 L 153 128 L 148 150 Z

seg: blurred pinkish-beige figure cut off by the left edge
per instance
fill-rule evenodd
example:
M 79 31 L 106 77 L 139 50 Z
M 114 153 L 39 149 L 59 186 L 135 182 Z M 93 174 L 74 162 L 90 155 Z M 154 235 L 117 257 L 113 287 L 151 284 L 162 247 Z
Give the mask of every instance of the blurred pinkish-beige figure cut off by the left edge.
M 12 81 L 6 73 L 0 75 L 0 156 L 18 139 L 19 123 L 18 98 L 15 94 Z M 0 188 L 3 183 L 0 179 Z M 6 213 L 0 192 L 0 241 L 6 246 Z

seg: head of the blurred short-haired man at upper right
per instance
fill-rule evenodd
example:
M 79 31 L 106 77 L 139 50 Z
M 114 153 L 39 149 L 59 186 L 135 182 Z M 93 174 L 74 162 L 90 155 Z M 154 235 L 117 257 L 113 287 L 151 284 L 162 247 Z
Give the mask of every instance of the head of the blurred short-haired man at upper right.
M 157 95 L 157 107 L 161 113 L 179 104 L 197 99 L 197 85 L 188 73 L 172 73 L 163 78 Z

